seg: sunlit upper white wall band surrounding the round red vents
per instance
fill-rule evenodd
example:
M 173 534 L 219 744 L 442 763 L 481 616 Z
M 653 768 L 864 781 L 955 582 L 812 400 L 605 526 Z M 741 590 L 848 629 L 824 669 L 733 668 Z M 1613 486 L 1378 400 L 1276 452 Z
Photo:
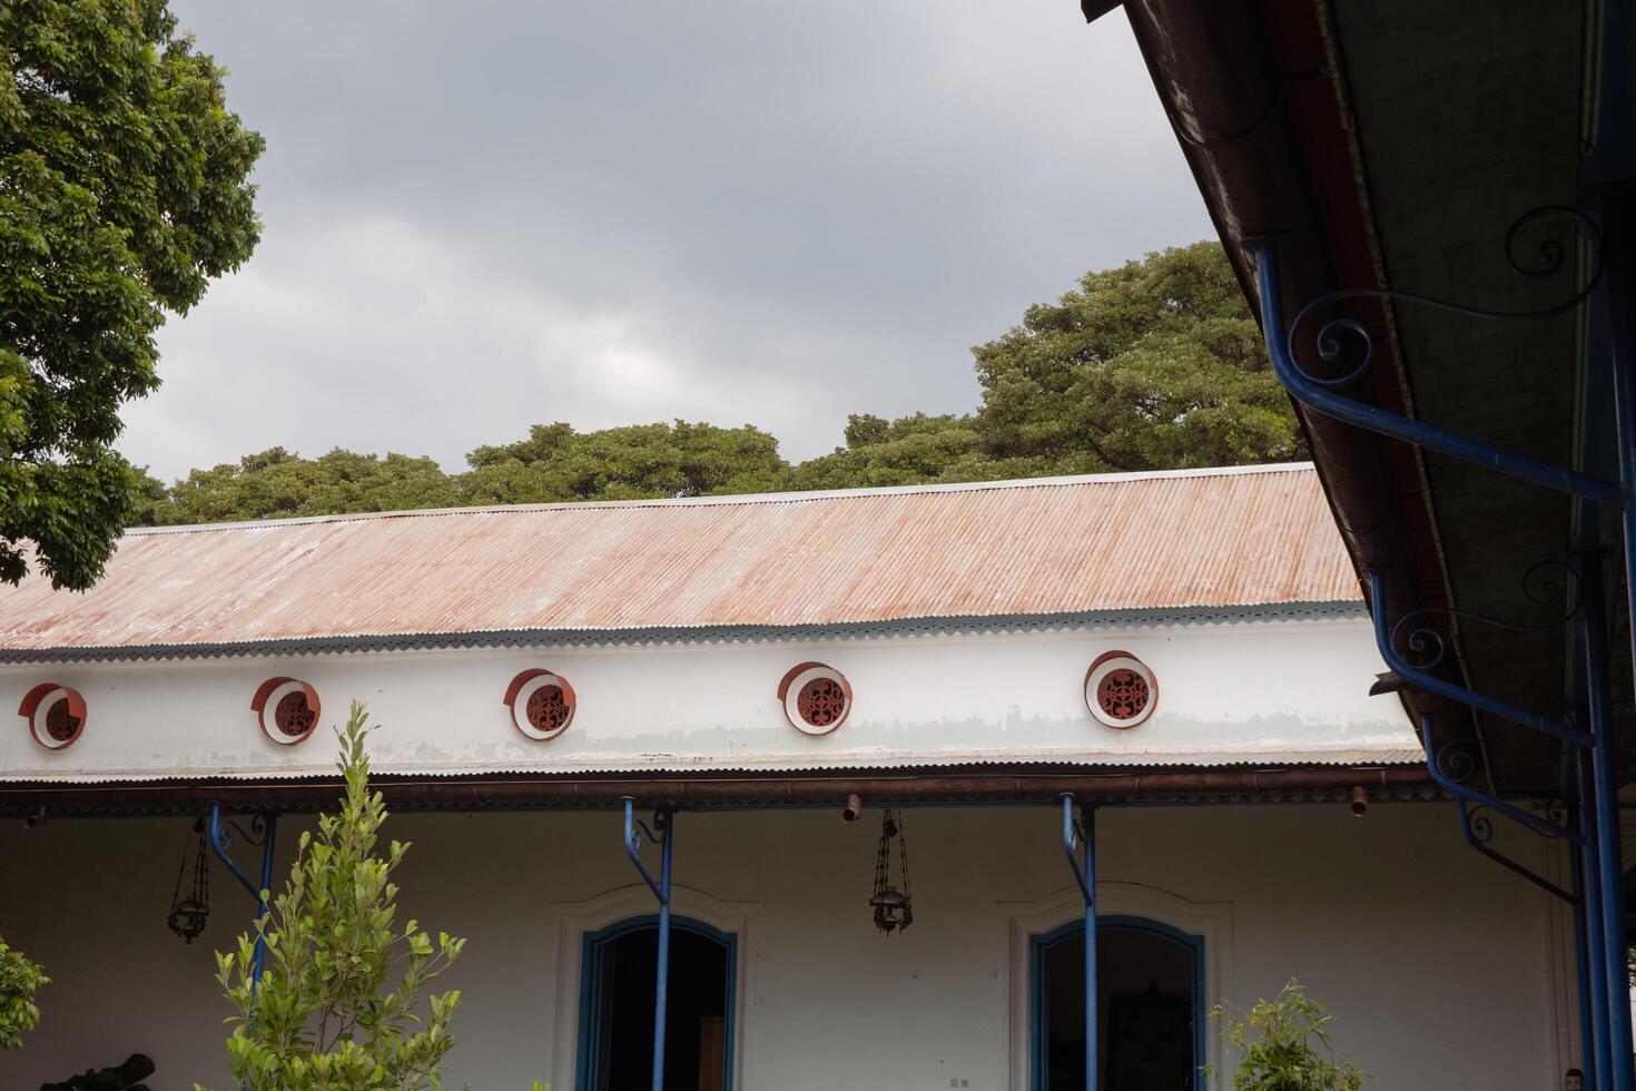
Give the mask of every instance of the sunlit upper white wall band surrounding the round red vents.
M 1086 667 L 1122 649 L 1158 680 L 1153 718 L 1119 731 L 1085 707 Z M 821 738 L 789 725 L 779 679 L 816 659 L 843 671 L 854 705 Z M 51 751 L 13 720 L 0 777 L 141 779 L 332 772 L 327 730 L 298 746 L 250 712 L 262 680 L 311 682 L 324 723 L 363 700 L 383 725 L 380 772 L 790 769 L 983 761 L 1216 764 L 1324 761 L 1368 751 L 1418 762 L 1361 618 L 1130 630 L 970 633 L 787 643 L 474 649 L 0 667 L 0 707 L 51 680 L 77 687 L 87 726 Z M 568 731 L 524 738 L 502 705 L 522 669 L 563 674 L 579 697 Z M 1391 751 L 1391 757 L 1386 756 Z M 1299 754 L 1299 756 L 1297 756 Z M 1304 757 L 1301 757 L 1304 756 Z

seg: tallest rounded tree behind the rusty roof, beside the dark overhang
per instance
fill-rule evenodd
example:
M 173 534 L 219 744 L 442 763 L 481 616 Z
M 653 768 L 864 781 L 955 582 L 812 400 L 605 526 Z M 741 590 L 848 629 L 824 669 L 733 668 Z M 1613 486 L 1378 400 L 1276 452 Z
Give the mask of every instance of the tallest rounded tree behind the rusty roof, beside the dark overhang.
M 1217 242 L 1086 273 L 973 353 L 977 429 L 993 460 L 1098 473 L 1304 456 Z

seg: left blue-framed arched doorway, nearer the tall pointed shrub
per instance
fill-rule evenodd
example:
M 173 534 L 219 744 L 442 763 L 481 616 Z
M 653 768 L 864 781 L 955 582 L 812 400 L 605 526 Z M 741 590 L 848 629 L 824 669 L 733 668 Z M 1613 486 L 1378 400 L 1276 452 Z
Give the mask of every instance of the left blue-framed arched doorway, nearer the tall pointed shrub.
M 656 916 L 586 936 L 579 986 L 578 1091 L 648 1091 L 653 1080 Z M 664 1086 L 731 1091 L 736 937 L 671 918 Z

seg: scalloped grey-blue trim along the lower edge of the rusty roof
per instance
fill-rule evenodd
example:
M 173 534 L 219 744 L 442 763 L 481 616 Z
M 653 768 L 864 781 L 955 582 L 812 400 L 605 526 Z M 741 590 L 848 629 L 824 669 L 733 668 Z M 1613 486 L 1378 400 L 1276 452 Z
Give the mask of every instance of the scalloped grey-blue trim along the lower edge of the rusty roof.
M 224 659 L 257 656 L 427 651 L 447 648 L 602 648 L 630 644 L 782 643 L 795 640 L 882 640 L 965 633 L 1026 633 L 1093 628 L 1255 625 L 1364 617 L 1361 600 L 1276 602 L 1238 607 L 1094 610 L 993 617 L 929 617 L 823 625 L 697 625 L 605 630 L 483 630 L 470 633 L 345 635 L 252 640 L 221 644 L 100 648 L 0 648 L 0 666 L 26 662 L 115 662 L 141 659 Z

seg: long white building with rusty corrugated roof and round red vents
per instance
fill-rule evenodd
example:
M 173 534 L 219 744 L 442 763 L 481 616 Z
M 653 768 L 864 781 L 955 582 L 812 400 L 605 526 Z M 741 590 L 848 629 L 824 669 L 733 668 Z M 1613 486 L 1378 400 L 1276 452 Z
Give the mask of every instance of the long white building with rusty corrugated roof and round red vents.
M 3 1086 L 227 1086 L 209 950 L 254 901 L 211 860 L 203 936 L 165 927 L 195 823 L 255 875 L 263 821 L 281 885 L 353 700 L 402 913 L 470 941 L 456 1084 L 649 1086 L 627 798 L 669 816 L 667 1088 L 1083 1086 L 1065 795 L 1103 1088 L 1230 1086 L 1209 1012 L 1291 977 L 1376 1086 L 1567 1063 L 1571 924 L 1369 695 L 1306 466 L 137 532 L 0 618 L 0 934 L 54 978 Z

